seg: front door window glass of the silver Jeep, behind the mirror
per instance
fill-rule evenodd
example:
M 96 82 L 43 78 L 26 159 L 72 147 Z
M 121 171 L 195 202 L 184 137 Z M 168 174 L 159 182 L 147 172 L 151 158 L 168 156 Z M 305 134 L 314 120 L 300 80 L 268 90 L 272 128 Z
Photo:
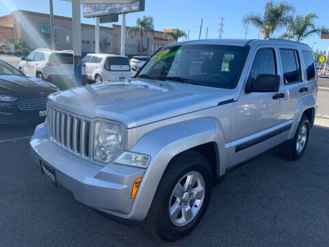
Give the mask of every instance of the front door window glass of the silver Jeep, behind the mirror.
M 249 80 L 256 81 L 258 75 L 276 75 L 276 54 L 274 49 L 260 49 L 254 58 Z

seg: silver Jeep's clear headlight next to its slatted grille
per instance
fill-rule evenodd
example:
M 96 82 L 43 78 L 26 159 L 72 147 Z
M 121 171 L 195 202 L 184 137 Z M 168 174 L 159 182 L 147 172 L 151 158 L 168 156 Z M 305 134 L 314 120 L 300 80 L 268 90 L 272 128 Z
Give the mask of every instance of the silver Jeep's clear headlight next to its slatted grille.
M 113 161 L 123 151 L 124 128 L 120 124 L 95 122 L 94 159 Z

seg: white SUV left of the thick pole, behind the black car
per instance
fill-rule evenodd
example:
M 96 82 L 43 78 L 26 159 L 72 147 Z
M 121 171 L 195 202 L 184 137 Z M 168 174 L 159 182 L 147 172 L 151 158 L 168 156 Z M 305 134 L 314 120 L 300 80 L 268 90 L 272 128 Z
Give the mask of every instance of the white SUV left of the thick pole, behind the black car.
M 26 58 L 22 58 L 19 69 L 26 75 L 47 80 L 56 84 L 60 89 L 66 89 L 71 87 L 69 82 L 73 80 L 74 75 L 73 51 L 36 49 Z M 84 66 L 82 66 L 82 78 L 86 80 L 86 67 Z

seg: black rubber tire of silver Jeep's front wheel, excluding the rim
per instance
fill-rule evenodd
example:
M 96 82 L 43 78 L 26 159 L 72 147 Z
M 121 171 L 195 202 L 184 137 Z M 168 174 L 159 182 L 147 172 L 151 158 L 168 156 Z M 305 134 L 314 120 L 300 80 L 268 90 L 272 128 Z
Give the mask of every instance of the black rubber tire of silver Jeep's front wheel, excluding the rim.
M 199 172 L 204 177 L 205 182 L 205 195 L 202 207 L 199 209 L 195 218 L 185 226 L 175 226 L 169 217 L 169 201 L 175 185 L 178 181 L 188 172 Z M 175 170 L 172 176 L 167 177 L 165 185 L 156 193 L 162 194 L 160 204 L 156 205 L 156 228 L 160 237 L 166 241 L 175 241 L 184 237 L 197 226 L 206 211 L 212 189 L 212 174 L 208 163 L 200 162 L 200 160 L 191 161 L 188 165 L 182 165 L 180 169 Z M 158 194 L 158 195 L 159 195 Z

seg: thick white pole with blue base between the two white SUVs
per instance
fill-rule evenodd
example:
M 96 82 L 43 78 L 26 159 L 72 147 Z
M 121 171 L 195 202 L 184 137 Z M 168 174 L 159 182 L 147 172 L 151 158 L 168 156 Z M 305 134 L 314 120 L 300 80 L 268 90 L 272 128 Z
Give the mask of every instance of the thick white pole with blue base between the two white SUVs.
M 76 86 L 82 86 L 80 0 L 72 0 L 72 40 L 74 81 Z

